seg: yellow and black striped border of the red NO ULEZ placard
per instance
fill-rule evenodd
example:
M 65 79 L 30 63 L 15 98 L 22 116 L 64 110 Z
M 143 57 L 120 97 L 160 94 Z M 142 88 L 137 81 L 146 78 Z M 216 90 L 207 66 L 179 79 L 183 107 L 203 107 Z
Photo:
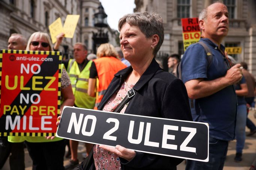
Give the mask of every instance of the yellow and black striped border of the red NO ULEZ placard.
M 2 59 L 3 54 L 41 54 L 41 55 L 56 55 L 59 57 L 59 82 L 58 82 L 58 109 L 57 114 L 60 114 L 60 87 L 61 87 L 61 61 L 62 61 L 62 53 L 59 51 L 27 51 L 27 50 L 0 50 L 0 99 L 1 99 L 1 80 L 2 80 Z M 0 101 L 1 103 L 1 101 Z M 0 136 L 55 136 L 55 133 L 27 133 L 27 132 L 0 132 Z

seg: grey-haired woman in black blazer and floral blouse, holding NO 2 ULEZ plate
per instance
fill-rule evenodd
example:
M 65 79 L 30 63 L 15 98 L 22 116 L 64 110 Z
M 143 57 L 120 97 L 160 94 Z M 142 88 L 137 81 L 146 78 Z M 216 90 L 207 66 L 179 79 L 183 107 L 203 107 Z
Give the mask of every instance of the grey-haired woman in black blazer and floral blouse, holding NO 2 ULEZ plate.
M 181 80 L 163 71 L 155 56 L 164 40 L 163 19 L 157 13 L 136 12 L 118 23 L 124 58 L 131 67 L 115 74 L 99 110 L 192 121 L 188 95 Z M 133 93 L 133 89 L 135 95 Z M 130 102 L 120 102 L 130 92 Z M 120 104 L 120 105 L 119 105 Z M 116 110 L 116 108 L 119 108 Z M 128 128 L 128 127 L 127 127 Z M 176 169 L 182 159 L 94 145 L 91 169 Z M 85 169 L 86 163 L 80 165 Z

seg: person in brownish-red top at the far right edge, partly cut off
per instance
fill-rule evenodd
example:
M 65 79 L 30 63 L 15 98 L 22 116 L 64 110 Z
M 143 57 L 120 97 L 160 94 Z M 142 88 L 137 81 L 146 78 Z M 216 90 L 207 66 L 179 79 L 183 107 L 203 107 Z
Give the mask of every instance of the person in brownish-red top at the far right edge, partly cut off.
M 247 71 L 247 64 L 245 62 L 241 62 L 241 65 L 243 67 L 242 74 L 244 75 L 248 87 L 248 95 L 245 96 L 245 101 L 247 102 L 248 115 L 249 108 L 254 107 L 255 105 L 254 96 L 256 95 L 256 81 L 253 75 Z M 247 134 L 247 136 L 252 136 L 254 135 L 254 133 L 256 133 L 256 126 L 248 117 L 246 119 L 246 126 L 250 129 L 250 132 Z

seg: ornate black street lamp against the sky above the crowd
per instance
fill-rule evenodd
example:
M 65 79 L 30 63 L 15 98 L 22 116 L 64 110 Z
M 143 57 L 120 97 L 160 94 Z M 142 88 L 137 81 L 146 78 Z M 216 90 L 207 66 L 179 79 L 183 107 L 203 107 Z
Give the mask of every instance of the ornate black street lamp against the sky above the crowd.
M 94 26 L 98 28 L 98 33 L 93 33 L 93 53 L 96 54 L 96 47 L 103 43 L 108 43 L 108 32 L 104 33 L 104 28 L 107 25 L 107 14 L 104 11 L 101 3 L 99 4 L 99 12 L 94 14 L 95 23 Z

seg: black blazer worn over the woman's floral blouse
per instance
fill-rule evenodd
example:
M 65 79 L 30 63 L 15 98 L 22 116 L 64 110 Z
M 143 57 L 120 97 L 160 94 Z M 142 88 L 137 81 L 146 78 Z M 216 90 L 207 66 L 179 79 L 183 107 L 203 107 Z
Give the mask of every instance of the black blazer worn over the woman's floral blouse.
M 99 110 L 102 110 L 105 103 L 120 89 L 131 71 L 133 68 L 130 66 L 114 75 L 98 106 Z M 174 75 L 163 71 L 155 59 L 152 60 L 133 89 L 136 90 L 136 94 L 128 103 L 126 114 L 193 121 L 185 85 Z M 122 170 L 141 170 L 176 169 L 176 166 L 183 160 L 136 151 L 133 160 L 127 161 L 120 158 L 120 161 Z

